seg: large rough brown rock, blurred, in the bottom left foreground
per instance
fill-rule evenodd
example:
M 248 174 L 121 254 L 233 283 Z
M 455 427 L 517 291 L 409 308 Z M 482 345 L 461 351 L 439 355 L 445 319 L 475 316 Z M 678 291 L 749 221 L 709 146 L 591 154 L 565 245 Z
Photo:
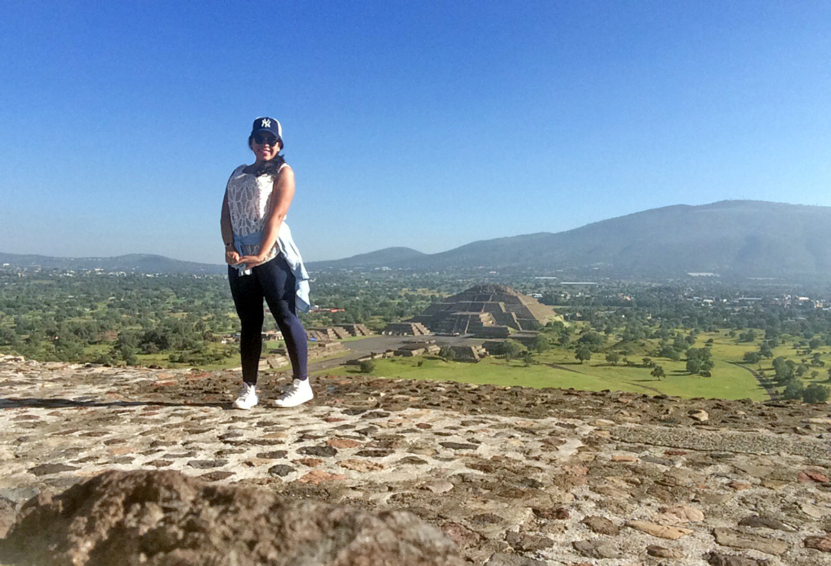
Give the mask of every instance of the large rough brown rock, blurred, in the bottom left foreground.
M 445 534 L 405 511 L 289 500 L 175 471 L 107 471 L 32 499 L 0 555 L 54 566 L 461 564 Z

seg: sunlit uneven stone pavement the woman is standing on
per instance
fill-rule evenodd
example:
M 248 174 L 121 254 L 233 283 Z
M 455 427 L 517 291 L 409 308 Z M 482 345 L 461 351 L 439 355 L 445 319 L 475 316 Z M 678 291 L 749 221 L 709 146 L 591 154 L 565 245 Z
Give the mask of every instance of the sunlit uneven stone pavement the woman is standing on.
M 828 405 L 331 377 L 239 412 L 238 380 L 0 357 L 0 536 L 42 490 L 149 468 L 411 510 L 470 564 L 831 564 Z

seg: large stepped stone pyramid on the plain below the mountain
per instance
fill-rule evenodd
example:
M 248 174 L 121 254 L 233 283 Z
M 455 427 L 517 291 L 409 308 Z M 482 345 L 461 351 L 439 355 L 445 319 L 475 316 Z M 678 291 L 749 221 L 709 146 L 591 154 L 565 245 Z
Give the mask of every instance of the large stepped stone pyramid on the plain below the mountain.
M 459 295 L 433 303 L 413 322 L 433 332 L 507 336 L 509 329 L 533 330 L 558 314 L 508 285 L 476 285 Z

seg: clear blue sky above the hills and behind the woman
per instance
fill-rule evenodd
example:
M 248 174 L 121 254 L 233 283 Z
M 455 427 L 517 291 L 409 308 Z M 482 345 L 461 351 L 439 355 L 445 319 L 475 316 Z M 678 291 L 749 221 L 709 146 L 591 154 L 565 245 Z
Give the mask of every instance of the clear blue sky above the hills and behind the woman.
M 220 263 L 253 118 L 307 261 L 831 205 L 828 2 L 4 2 L 0 251 Z

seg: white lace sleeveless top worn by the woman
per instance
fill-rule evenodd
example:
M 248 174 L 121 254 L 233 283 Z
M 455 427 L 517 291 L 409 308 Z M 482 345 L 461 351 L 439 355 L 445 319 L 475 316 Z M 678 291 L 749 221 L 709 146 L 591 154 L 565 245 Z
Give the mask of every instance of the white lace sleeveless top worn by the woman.
M 278 172 L 285 166 L 286 163 L 283 163 Z M 226 187 L 231 227 L 238 236 L 248 236 L 263 230 L 268 210 L 271 208 L 271 193 L 274 188 L 271 175 L 255 177 L 251 173 L 243 173 L 243 168 L 246 167 L 248 166 L 243 164 L 235 168 Z M 259 251 L 259 244 L 243 246 L 243 254 L 246 256 L 256 256 Z M 280 250 L 275 244 L 265 261 L 273 260 L 279 253 Z

